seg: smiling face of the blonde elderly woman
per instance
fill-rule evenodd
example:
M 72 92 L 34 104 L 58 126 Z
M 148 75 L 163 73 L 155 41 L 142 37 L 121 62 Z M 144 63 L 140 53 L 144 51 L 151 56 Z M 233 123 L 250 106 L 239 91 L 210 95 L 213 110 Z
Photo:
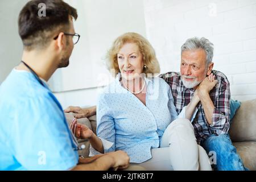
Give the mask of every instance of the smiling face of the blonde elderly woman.
M 143 55 L 135 43 L 125 43 L 117 53 L 119 71 L 126 80 L 133 80 L 143 72 Z

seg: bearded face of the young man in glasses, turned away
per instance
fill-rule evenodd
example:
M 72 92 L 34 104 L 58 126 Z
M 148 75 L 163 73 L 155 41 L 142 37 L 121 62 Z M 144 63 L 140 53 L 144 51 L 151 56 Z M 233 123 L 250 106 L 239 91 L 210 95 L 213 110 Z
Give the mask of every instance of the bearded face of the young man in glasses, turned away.
M 73 26 L 73 20 L 70 20 L 70 28 L 69 31 L 67 33 L 69 34 L 75 34 L 75 30 L 74 30 L 74 26 Z M 71 53 L 73 51 L 74 48 L 74 44 L 73 44 L 73 37 L 72 36 L 67 36 L 65 35 L 65 49 L 63 49 L 63 53 L 61 55 L 61 60 L 60 63 L 58 65 L 59 68 L 65 68 L 68 67 L 69 65 L 69 57 L 71 56 Z

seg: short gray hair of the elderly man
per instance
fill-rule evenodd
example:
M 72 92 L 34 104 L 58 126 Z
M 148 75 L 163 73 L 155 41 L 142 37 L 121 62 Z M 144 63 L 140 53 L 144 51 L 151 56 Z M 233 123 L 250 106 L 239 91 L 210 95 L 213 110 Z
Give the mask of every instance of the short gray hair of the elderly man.
M 205 38 L 190 38 L 186 40 L 186 42 L 181 46 L 181 54 L 183 51 L 192 51 L 195 49 L 203 49 L 207 56 L 207 64 L 208 66 L 212 63 L 213 58 L 213 43 L 211 43 L 208 39 Z

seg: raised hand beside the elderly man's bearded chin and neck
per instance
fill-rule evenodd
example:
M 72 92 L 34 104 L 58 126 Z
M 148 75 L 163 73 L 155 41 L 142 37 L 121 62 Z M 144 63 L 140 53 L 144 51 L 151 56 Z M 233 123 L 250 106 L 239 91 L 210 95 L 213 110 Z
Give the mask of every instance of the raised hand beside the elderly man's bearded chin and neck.
M 215 76 L 211 73 L 208 77 L 205 77 L 201 82 L 198 88 L 199 97 L 203 96 L 206 93 L 209 93 L 210 90 L 217 84 L 217 80 L 215 80 Z

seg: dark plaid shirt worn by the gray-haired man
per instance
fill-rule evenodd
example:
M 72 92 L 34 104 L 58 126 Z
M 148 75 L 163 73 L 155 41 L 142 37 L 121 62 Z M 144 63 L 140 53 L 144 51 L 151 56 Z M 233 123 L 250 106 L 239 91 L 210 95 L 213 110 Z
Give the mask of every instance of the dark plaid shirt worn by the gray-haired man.
M 204 114 L 204 109 L 199 102 L 192 118 L 197 143 L 204 142 L 209 135 L 220 135 L 228 133 L 230 127 L 230 89 L 228 78 L 221 72 L 212 71 L 218 83 L 210 91 L 209 95 L 213 101 L 214 111 L 212 124 L 209 125 Z M 183 107 L 187 106 L 193 98 L 195 89 L 185 88 L 181 81 L 180 73 L 168 72 L 160 75 L 170 85 L 174 96 L 176 111 L 180 114 Z

